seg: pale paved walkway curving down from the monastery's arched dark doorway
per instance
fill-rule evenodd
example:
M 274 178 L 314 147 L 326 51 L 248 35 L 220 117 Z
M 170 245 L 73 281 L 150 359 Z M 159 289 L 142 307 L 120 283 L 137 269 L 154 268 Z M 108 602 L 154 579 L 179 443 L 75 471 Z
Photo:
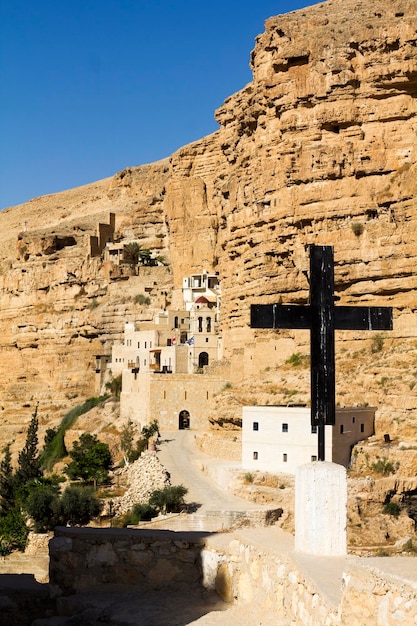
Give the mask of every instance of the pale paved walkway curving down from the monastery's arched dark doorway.
M 158 445 L 158 458 L 171 474 L 172 485 L 184 485 L 187 504 L 194 505 L 198 513 L 211 511 L 254 511 L 264 507 L 234 496 L 218 486 L 210 476 L 213 471 L 238 469 L 238 463 L 213 459 L 201 452 L 195 443 L 195 433 L 190 430 L 163 432 Z M 227 472 L 224 472 L 227 480 Z

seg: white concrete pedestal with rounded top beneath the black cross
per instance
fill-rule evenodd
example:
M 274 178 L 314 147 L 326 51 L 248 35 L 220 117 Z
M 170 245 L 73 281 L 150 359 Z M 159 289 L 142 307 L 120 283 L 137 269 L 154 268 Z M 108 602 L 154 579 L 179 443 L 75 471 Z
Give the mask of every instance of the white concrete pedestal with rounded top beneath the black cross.
M 315 461 L 295 474 L 295 549 L 319 556 L 345 556 L 347 477 L 342 465 Z

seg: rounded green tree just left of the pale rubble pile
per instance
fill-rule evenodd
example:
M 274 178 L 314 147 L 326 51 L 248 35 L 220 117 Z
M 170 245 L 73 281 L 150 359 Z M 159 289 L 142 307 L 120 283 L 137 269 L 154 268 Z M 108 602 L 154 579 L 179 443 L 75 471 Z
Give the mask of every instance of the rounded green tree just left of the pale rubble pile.
M 103 483 L 108 479 L 111 454 L 107 443 L 97 439 L 97 435 L 83 433 L 69 453 L 72 458 L 64 472 L 71 480 L 81 479 L 86 483 Z

